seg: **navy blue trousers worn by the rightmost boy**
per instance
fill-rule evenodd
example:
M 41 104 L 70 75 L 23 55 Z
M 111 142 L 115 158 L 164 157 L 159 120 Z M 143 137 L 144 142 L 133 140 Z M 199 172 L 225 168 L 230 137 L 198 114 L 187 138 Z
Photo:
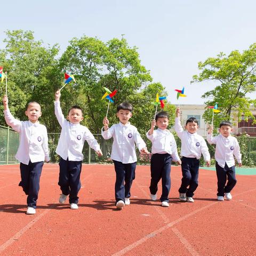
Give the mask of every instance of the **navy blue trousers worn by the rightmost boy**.
M 216 174 L 218 179 L 218 193 L 217 196 L 224 196 L 225 193 L 230 193 L 230 191 L 236 185 L 236 171 L 235 165 L 228 167 L 225 163 L 224 168 L 218 165 L 216 162 Z M 228 179 L 228 183 L 226 185 L 226 181 Z

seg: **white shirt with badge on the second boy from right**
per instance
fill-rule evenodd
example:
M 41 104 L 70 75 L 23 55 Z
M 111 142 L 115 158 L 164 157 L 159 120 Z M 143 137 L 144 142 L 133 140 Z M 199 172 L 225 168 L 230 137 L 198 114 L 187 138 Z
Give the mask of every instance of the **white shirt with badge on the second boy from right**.
M 174 130 L 181 139 L 181 156 L 199 159 L 203 154 L 204 160 L 210 161 L 209 149 L 204 138 L 196 132 L 189 133 L 188 131 L 183 131 L 179 117 L 175 118 Z

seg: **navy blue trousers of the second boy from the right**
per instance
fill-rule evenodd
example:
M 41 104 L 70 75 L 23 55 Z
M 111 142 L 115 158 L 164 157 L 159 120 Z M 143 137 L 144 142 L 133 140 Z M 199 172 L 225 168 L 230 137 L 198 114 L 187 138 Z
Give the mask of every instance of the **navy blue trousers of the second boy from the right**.
M 198 187 L 199 160 L 182 156 L 181 158 L 182 179 L 179 193 L 186 193 L 187 197 L 193 197 Z

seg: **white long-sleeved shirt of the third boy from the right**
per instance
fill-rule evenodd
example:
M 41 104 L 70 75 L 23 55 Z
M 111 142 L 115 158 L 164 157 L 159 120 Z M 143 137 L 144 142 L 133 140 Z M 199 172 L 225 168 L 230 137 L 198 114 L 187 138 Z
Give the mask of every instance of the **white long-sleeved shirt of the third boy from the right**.
M 180 161 L 177 151 L 177 144 L 173 134 L 169 130 L 157 129 L 151 135 L 149 131 L 146 133 L 147 138 L 152 142 L 152 154 L 165 154 L 168 153 L 172 156 L 174 162 Z

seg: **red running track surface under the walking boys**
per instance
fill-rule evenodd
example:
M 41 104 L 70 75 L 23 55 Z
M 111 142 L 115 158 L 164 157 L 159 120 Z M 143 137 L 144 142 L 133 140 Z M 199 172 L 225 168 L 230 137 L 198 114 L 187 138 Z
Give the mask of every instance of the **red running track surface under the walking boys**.
M 150 167 L 137 166 L 122 211 L 113 165 L 83 165 L 81 180 L 79 209 L 70 210 L 57 203 L 58 164 L 45 164 L 37 212 L 26 215 L 19 166 L 0 166 L 0 255 L 256 255 L 255 175 L 237 175 L 233 200 L 218 202 L 215 172 L 201 170 L 187 203 L 177 199 L 181 170 L 172 167 L 170 207 L 161 207 L 150 201 Z

